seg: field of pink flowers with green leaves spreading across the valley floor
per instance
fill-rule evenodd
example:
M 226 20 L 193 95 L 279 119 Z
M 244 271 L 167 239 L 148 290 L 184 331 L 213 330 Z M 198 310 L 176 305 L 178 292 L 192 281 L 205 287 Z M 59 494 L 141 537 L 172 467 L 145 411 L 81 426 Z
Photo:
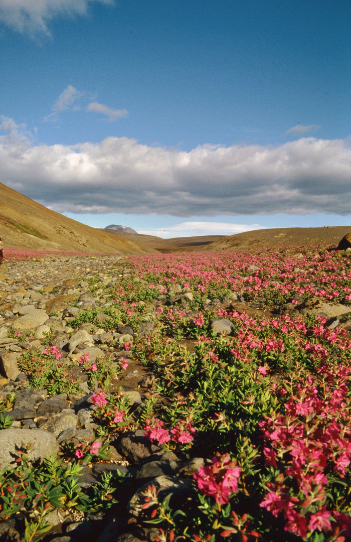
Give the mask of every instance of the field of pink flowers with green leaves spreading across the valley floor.
M 317 297 L 344 304 L 347 313 L 351 257 L 343 251 L 313 248 L 302 254 L 289 248 L 126 261 L 128 274 L 110 270 L 120 278 L 106 286 L 113 305 L 104 325 L 106 331 L 120 324 L 135 329 L 154 320 L 150 336 L 122 347 L 152 370 L 155 380 L 133 410 L 122 389 L 109 392 L 106 362 L 92 365 L 81 358 L 77 363 L 95 379 L 95 388 L 99 384 L 92 401 L 103 437 L 71 450 L 70 461 L 92 461 L 109 432 L 128 428 L 144 429 L 150 441 L 180 459 L 203 458 L 185 502 L 159 499 L 152 483 L 144 492 L 142 513 L 133 521 L 157 527 L 157 542 L 350 541 L 347 319 L 330 328 L 323 315 L 268 316 L 252 310 L 249 315 L 219 299 L 239 294 L 249 310 L 256 301 L 263 308 L 287 302 L 298 308 Z M 183 294 L 192 294 L 185 304 L 170 293 L 175 283 Z M 96 315 L 87 312 L 71 325 L 98 325 Z M 230 320 L 231 333 L 215 334 L 211 319 Z M 35 385 L 45 377 L 50 357 L 62 380 L 59 352 L 47 350 L 39 361 L 36 354 L 26 355 L 23 370 L 35 367 Z M 127 356 L 120 364 L 121 372 L 127 370 Z

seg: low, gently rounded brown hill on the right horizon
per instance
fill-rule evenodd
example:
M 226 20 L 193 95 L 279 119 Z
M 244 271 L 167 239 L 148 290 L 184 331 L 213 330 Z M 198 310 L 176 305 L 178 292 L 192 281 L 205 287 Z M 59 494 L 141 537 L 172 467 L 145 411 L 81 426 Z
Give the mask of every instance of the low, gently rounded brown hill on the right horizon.
M 326 226 L 324 228 L 272 228 L 245 231 L 215 241 L 203 250 L 274 248 L 286 246 L 314 246 L 318 244 L 335 247 L 341 238 L 351 231 L 351 226 Z

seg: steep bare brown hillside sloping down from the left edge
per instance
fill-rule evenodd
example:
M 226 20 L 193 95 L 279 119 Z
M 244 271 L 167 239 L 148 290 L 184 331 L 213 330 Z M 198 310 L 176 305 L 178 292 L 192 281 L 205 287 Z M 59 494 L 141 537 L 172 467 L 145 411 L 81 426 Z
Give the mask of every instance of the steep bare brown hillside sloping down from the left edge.
M 90 228 L 60 215 L 0 183 L 0 237 L 5 248 L 69 250 L 105 254 L 150 254 L 147 244 Z

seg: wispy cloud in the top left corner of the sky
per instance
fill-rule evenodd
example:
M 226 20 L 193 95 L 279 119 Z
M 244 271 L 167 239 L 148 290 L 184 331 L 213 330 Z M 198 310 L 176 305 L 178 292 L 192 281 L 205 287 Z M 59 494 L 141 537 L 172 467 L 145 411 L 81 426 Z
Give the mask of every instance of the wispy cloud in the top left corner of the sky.
M 51 20 L 59 16 L 86 15 L 92 2 L 112 4 L 113 0 L 0 0 L 0 20 L 32 39 L 51 36 L 48 27 Z

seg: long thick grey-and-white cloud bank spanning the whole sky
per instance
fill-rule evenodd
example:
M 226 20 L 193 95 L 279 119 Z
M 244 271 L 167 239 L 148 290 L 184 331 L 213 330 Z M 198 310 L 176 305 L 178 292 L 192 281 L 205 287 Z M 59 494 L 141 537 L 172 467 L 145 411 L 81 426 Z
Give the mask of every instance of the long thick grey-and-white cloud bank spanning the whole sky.
M 127 137 L 44 145 L 13 120 L 2 121 L 0 182 L 59 212 L 179 217 L 350 212 L 346 140 L 202 145 L 189 152 Z

